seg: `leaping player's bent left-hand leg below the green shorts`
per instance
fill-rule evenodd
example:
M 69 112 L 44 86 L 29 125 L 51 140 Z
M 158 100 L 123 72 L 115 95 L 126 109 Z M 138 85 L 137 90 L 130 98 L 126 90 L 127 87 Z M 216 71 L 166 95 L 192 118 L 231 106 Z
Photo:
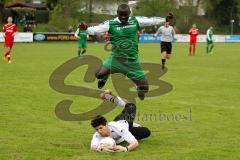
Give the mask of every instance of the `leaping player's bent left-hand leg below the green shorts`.
M 101 66 L 97 71 L 96 71 L 96 78 L 99 79 L 98 80 L 98 88 L 101 89 L 105 83 L 107 82 L 107 79 L 109 77 L 110 74 L 110 69 L 109 68 L 105 68 L 103 66 Z

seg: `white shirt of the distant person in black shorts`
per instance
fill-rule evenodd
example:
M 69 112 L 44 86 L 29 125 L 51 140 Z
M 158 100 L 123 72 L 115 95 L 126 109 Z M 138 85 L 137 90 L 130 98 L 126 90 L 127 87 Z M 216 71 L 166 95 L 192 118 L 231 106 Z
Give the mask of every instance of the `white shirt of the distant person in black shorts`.
M 174 36 L 175 36 L 175 31 L 172 26 L 166 27 L 164 25 L 164 26 L 159 27 L 155 36 L 157 36 L 159 33 L 162 34 L 161 42 L 172 42 L 174 39 Z

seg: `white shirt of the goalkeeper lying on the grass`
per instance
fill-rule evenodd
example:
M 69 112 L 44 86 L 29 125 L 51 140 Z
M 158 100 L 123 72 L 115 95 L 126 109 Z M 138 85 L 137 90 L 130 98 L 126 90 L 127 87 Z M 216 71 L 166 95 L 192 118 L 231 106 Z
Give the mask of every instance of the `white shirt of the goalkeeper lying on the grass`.
M 128 143 L 132 143 L 137 141 L 136 138 L 129 132 L 129 125 L 126 120 L 112 121 L 108 123 L 108 127 L 110 129 L 110 137 L 112 137 L 116 144 L 119 144 L 123 141 Z M 92 141 L 91 147 L 98 147 L 101 139 L 103 139 L 98 132 L 95 132 Z

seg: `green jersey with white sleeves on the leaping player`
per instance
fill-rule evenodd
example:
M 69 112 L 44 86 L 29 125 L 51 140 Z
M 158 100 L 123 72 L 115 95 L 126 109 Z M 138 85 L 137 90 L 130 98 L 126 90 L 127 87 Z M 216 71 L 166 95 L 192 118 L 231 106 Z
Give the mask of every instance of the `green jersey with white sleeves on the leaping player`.
M 126 24 L 122 24 L 118 18 L 108 20 L 98 26 L 88 27 L 90 35 L 98 35 L 108 32 L 110 42 L 113 45 L 112 54 L 126 54 L 128 58 L 138 57 L 138 30 L 140 27 L 159 25 L 165 22 L 163 17 L 129 17 Z

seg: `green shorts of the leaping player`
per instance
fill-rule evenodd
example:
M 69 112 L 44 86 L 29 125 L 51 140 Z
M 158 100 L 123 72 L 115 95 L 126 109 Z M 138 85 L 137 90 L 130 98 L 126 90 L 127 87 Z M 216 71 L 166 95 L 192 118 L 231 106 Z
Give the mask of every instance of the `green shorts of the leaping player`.
M 138 58 L 125 58 L 110 55 L 103 66 L 111 69 L 111 73 L 122 73 L 130 79 L 147 80 Z

